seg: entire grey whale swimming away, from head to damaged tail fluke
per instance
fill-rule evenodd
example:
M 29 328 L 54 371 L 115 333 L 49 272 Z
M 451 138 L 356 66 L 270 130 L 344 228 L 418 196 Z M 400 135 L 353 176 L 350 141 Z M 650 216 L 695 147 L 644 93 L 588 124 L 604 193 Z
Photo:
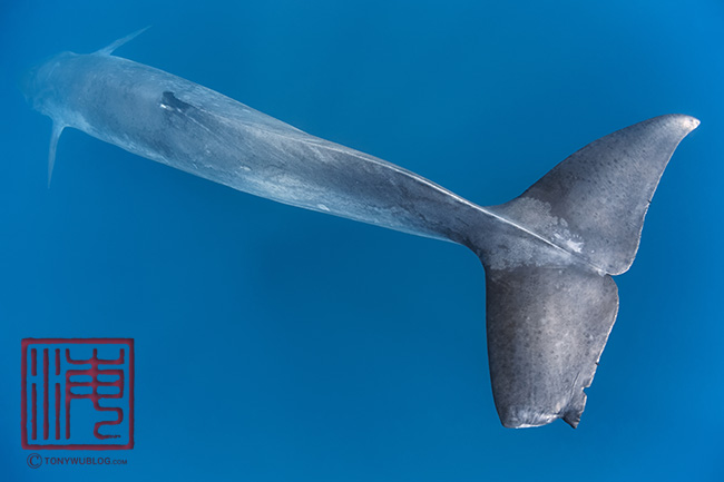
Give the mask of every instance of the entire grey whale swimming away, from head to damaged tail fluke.
M 58 138 L 80 129 L 245 193 L 472 249 L 486 272 L 493 399 L 508 427 L 576 427 L 618 311 L 612 275 L 632 265 L 644 216 L 678 142 L 667 115 L 618 130 L 521 196 L 481 207 L 393 164 L 311 136 L 114 50 L 59 53 L 27 72 L 28 101 Z

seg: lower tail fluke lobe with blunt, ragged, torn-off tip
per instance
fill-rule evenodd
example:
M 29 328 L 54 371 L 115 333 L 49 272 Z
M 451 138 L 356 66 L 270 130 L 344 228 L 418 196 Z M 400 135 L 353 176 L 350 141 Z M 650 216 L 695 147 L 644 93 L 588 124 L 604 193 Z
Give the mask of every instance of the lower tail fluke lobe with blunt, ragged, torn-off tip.
M 610 276 L 583 265 L 488 269 L 492 394 L 509 427 L 578 425 L 616 313 Z

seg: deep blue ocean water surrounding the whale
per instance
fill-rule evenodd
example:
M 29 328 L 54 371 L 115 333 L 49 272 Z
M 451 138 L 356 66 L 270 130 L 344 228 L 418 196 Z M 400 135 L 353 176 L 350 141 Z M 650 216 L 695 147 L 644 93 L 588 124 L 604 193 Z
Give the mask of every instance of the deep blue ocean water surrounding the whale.
M 68 130 L 16 87 L 117 55 L 491 205 L 663 114 L 674 155 L 578 430 L 503 429 L 464 248 L 274 204 Z M 18 1 L 0 7 L 0 479 L 724 479 L 721 1 Z M 20 340 L 134 337 L 126 466 L 20 447 Z M 70 454 L 60 452 L 55 455 Z M 84 452 L 84 455 L 94 455 Z M 75 454 L 74 454 L 75 455 Z

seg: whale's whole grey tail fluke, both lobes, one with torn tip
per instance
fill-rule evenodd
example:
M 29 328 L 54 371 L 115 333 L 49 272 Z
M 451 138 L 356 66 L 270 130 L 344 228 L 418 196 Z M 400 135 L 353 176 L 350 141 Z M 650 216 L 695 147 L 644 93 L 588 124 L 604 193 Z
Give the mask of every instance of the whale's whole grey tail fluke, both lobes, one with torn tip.
M 644 217 L 678 142 L 671 115 L 584 147 L 520 197 L 486 208 L 508 224 L 477 252 L 486 267 L 488 356 L 503 425 L 577 426 Z M 500 253 L 503 252 L 505 256 Z

